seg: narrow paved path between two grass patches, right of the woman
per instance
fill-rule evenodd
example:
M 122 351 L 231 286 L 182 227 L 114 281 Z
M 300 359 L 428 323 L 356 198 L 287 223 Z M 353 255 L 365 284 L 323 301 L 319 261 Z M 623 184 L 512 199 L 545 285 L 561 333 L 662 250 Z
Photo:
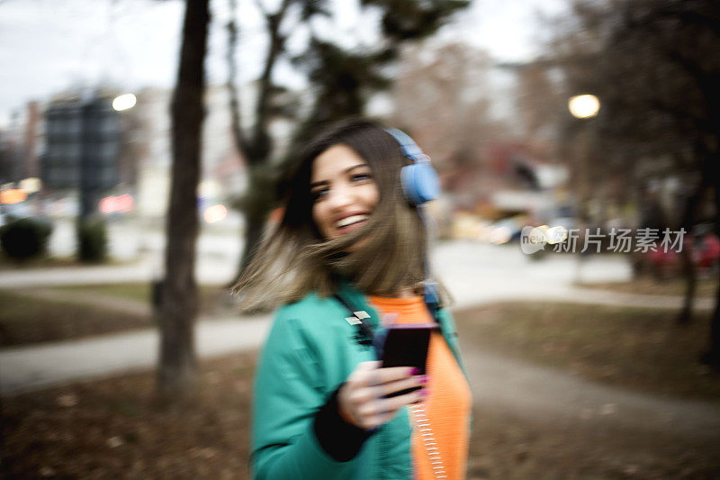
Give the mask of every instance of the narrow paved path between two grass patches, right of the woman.
M 473 401 L 555 425 L 621 426 L 632 431 L 720 439 L 720 403 L 662 398 L 599 385 L 552 368 L 464 346 Z

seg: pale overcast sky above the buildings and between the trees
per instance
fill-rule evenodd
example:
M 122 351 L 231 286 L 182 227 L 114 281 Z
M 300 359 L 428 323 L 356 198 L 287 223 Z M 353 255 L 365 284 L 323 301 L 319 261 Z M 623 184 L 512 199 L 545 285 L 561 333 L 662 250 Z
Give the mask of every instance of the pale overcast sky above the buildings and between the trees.
M 239 0 L 243 79 L 257 76 L 264 38 L 251 0 Z M 265 0 L 268 7 L 276 0 Z M 318 29 L 348 47 L 374 41 L 374 14 L 358 16 L 356 0 L 336 1 L 331 24 Z M 213 0 L 214 27 L 207 62 L 211 83 L 225 81 L 227 2 Z M 563 12 L 566 0 L 474 0 L 441 32 L 491 52 L 500 60 L 532 59 L 544 34 L 538 14 Z M 184 2 L 179 0 L 0 0 L 0 127 L 30 100 L 47 100 L 71 86 L 110 83 L 126 91 L 171 87 L 175 79 Z M 302 49 L 299 30 L 292 45 Z M 281 67 L 278 75 L 302 81 Z

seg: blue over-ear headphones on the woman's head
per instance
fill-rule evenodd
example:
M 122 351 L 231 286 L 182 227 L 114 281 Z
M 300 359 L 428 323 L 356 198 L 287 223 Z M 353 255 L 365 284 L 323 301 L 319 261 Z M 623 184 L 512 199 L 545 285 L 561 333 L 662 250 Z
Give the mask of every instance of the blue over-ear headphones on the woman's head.
M 440 180 L 435 168 L 430 165 L 428 155 L 405 132 L 397 129 L 386 131 L 398 140 L 402 154 L 412 161 L 400 172 L 402 192 L 410 204 L 421 205 L 435 200 L 440 196 Z

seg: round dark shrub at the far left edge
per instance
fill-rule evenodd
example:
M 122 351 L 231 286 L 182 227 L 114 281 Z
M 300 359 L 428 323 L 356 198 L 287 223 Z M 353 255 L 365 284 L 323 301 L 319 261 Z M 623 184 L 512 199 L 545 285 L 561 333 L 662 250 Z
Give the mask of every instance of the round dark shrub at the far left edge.
M 39 218 L 12 219 L 0 227 L 0 245 L 9 258 L 23 260 L 45 254 L 52 223 Z

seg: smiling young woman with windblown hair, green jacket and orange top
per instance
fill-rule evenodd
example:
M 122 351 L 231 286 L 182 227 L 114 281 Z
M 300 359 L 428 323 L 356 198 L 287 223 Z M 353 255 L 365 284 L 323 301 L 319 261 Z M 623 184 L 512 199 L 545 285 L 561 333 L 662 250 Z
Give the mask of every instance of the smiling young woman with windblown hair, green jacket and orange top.
M 235 287 L 247 306 L 283 303 L 257 368 L 256 478 L 465 476 L 470 388 L 452 318 L 423 300 L 426 232 L 401 188 L 405 153 L 363 120 L 313 140 Z M 388 322 L 439 324 L 427 376 L 380 367 L 371 340 Z

